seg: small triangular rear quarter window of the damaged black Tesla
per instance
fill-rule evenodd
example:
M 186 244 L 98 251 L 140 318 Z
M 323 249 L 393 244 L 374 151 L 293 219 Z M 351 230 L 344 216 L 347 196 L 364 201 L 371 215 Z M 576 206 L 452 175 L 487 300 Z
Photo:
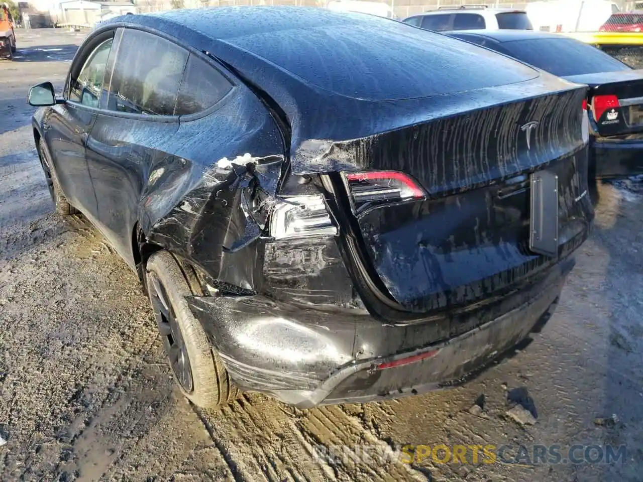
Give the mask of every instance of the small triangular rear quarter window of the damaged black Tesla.
M 230 92 L 232 84 L 217 69 L 190 55 L 176 103 L 177 116 L 201 112 Z

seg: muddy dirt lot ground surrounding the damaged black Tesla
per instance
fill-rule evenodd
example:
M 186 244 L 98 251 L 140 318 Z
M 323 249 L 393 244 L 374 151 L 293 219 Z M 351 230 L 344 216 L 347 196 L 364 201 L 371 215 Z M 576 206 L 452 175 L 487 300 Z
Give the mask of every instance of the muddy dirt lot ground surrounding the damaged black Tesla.
M 1 479 L 642 480 L 643 188 L 598 186 L 595 230 L 556 314 L 527 350 L 466 386 L 307 411 L 249 395 L 206 413 L 174 389 L 134 273 L 82 219 L 53 214 L 24 101 L 31 84 L 62 86 L 81 40 L 19 31 L 16 60 L 0 64 Z M 507 415 L 516 403 L 535 424 Z M 579 465 L 314 456 L 356 444 L 371 454 L 558 444 L 563 455 L 624 444 L 626 456 Z

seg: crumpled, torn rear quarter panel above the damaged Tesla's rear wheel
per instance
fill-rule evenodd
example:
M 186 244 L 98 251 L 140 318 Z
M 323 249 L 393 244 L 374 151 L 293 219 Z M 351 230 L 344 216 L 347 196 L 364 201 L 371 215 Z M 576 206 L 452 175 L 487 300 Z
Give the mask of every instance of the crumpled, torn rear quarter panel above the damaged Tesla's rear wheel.
M 238 111 L 248 116 L 233 114 Z M 174 137 L 181 161 L 152 166 L 140 206 L 141 219 L 148 220 L 143 230 L 150 242 L 214 280 L 255 290 L 262 266 L 258 238 L 284 168 L 284 145 L 247 89 L 218 114 L 181 122 Z M 212 135 L 195 138 L 195 130 Z

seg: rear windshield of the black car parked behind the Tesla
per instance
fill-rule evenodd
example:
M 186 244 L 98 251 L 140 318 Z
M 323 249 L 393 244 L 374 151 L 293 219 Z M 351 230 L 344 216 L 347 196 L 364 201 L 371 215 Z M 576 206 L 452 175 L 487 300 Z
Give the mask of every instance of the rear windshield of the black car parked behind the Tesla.
M 629 70 L 610 55 L 574 39 L 530 39 L 503 42 L 512 57 L 557 76 Z

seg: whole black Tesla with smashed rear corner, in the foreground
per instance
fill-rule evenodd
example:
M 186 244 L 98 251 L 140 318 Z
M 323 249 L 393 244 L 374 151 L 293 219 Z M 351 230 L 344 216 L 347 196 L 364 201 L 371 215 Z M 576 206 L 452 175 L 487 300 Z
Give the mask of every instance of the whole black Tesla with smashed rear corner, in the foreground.
M 186 397 L 311 407 L 452 384 L 547 318 L 593 217 L 585 96 L 402 22 L 243 7 L 102 24 L 30 102 Z

